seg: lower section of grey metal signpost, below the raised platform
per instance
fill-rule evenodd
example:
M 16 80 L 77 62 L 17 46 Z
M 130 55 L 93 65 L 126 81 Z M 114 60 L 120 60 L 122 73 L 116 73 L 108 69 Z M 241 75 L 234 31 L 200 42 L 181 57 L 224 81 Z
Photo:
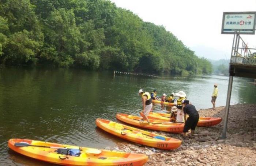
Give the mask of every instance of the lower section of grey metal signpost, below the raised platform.
M 222 139 L 226 138 L 227 119 L 229 117 L 229 106 L 230 106 L 232 84 L 233 84 L 233 76 L 229 76 L 229 87 L 227 88 L 227 101 L 226 101 L 226 108 L 225 108 L 224 126 L 223 126 L 222 137 L 221 137 Z

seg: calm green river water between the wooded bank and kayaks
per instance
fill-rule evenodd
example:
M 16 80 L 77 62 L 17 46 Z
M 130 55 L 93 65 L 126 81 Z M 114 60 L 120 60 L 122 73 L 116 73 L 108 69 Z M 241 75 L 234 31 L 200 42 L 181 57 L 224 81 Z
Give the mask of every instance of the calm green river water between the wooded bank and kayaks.
M 158 94 L 183 90 L 197 110 L 212 107 L 213 84 L 218 83 L 216 106 L 225 106 L 228 77 L 148 78 L 63 68 L 0 70 L 0 165 L 49 165 L 23 157 L 7 146 L 10 138 L 27 138 L 104 148 L 125 142 L 95 125 L 96 118 L 117 121 L 116 113 L 139 115 L 138 90 Z M 256 86 L 234 78 L 231 104 L 256 103 Z M 166 108 L 165 108 L 166 110 Z M 155 105 L 154 111 L 162 111 Z M 220 131 L 221 132 L 221 131 Z

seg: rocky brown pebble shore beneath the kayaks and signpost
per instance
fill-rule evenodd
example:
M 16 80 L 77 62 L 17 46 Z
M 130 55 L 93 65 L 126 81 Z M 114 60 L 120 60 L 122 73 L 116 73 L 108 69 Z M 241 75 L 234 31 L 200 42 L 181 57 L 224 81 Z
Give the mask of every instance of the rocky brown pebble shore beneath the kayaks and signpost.
M 225 107 L 199 110 L 200 116 L 224 117 Z M 119 143 L 113 150 L 149 155 L 146 166 L 255 166 L 256 105 L 230 106 L 227 138 L 221 139 L 223 121 L 212 127 L 197 127 L 193 139 L 180 134 L 155 132 L 182 140 L 176 150 L 159 150 L 131 142 Z

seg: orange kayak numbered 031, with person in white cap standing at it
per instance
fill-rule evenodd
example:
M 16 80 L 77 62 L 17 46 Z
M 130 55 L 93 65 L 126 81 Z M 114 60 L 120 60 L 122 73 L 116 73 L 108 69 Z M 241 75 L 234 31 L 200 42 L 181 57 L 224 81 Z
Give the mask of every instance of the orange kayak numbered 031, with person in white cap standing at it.
M 133 126 L 170 133 L 182 133 L 184 128 L 184 123 L 171 123 L 155 119 L 149 119 L 150 123 L 148 125 L 142 125 L 140 123 L 142 117 L 127 114 L 116 114 L 116 118 Z

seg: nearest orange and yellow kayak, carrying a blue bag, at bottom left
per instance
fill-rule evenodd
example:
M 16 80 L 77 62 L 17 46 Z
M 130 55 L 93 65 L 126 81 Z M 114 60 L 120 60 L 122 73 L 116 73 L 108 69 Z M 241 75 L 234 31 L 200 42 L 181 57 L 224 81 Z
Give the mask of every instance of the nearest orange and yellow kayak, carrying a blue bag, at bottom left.
M 148 156 L 144 154 L 98 150 L 30 139 L 10 139 L 8 146 L 27 157 L 68 166 L 142 166 L 148 160 Z M 56 152 L 57 149 L 67 148 L 80 150 L 80 155 L 76 157 Z

